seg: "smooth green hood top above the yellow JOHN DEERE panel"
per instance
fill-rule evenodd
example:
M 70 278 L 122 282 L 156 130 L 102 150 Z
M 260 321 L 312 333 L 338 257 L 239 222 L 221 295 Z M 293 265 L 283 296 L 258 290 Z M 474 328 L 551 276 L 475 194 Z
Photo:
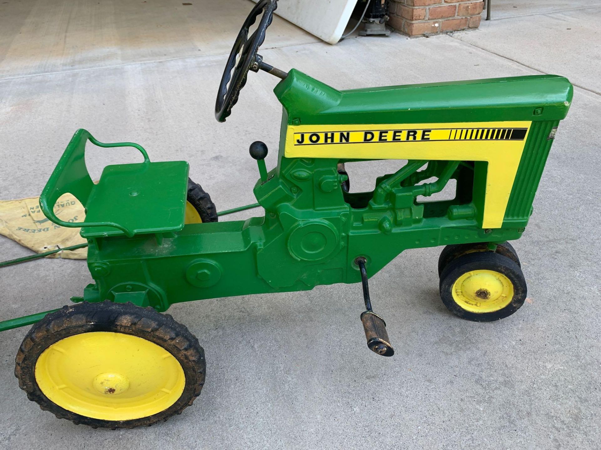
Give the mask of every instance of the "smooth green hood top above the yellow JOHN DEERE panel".
M 273 89 L 288 124 L 561 120 L 573 87 L 557 75 L 338 91 L 296 69 Z

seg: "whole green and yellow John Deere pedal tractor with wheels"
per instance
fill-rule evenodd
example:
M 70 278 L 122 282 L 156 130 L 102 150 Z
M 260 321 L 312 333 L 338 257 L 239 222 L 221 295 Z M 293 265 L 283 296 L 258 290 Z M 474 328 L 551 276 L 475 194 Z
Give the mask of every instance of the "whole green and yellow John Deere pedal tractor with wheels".
M 361 282 L 367 345 L 392 356 L 368 277 L 407 248 L 446 245 L 440 295 L 457 316 L 487 322 L 522 306 L 526 282 L 507 241 L 528 223 L 572 101 L 569 81 L 537 75 L 337 91 L 257 54 L 275 8 L 276 0 L 260 0 L 246 19 L 215 109 L 224 122 L 249 71 L 281 78 L 273 90 L 284 106 L 277 166 L 267 171 L 263 142 L 250 146 L 264 217 L 218 222 L 186 161 L 153 163 L 135 143 L 101 143 L 85 130 L 67 146 L 40 206 L 54 223 L 81 227 L 94 284 L 72 298 L 75 305 L 17 323 L 39 320 L 15 374 L 41 409 L 108 428 L 181 413 L 203 388 L 205 358 L 188 328 L 162 314 L 177 302 Z M 94 184 L 87 141 L 133 146 L 144 162 L 107 166 Z M 407 163 L 377 178 L 373 191 L 349 192 L 345 163 L 387 159 Z M 418 200 L 450 179 L 453 200 Z M 85 206 L 84 222 L 56 217 L 65 193 Z

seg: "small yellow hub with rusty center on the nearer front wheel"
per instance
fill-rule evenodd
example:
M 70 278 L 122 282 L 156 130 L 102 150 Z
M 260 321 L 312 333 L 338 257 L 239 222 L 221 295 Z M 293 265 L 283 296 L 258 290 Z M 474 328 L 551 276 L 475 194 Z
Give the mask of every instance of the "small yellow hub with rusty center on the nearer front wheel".
M 493 313 L 513 299 L 513 283 L 505 275 L 489 270 L 465 272 L 452 288 L 454 301 L 472 313 Z

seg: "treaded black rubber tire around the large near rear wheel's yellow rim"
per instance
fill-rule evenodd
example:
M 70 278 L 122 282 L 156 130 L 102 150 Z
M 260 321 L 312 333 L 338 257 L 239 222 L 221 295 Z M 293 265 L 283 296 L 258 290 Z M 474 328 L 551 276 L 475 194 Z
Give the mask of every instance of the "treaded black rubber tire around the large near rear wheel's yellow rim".
M 180 398 L 162 412 L 129 421 L 106 421 L 82 416 L 49 400 L 35 380 L 35 363 L 38 357 L 47 347 L 63 338 L 94 331 L 135 335 L 163 347 L 175 356 L 186 377 Z M 29 400 L 38 403 L 42 410 L 50 411 L 57 418 L 70 420 L 74 424 L 115 430 L 150 426 L 159 421 L 166 421 L 174 414 L 182 413 L 200 395 L 205 369 L 204 350 L 198 344 L 198 339 L 185 325 L 176 322 L 169 314 L 157 313 L 153 308 L 141 308 L 131 303 L 105 301 L 63 307 L 47 314 L 32 326 L 17 352 L 14 375 L 19 379 L 19 387 L 27 393 Z

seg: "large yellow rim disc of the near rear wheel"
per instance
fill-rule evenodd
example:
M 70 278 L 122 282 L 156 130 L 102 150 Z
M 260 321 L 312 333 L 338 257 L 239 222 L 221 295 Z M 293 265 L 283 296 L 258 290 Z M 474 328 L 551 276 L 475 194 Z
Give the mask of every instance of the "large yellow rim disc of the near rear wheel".
M 163 347 L 138 336 L 101 331 L 50 345 L 35 363 L 35 381 L 66 410 L 127 421 L 168 409 L 182 396 L 186 376 Z

